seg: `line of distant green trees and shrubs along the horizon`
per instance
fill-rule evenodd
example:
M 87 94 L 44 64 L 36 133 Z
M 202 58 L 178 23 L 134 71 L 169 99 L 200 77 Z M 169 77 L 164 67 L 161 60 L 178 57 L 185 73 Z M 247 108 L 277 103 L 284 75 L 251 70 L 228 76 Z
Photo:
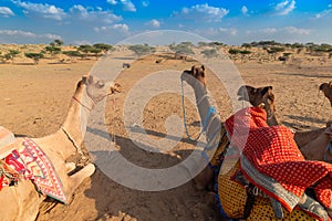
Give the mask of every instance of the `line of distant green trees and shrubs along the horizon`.
M 175 53 L 175 57 L 185 57 L 187 55 L 195 54 L 193 49 L 194 45 L 191 42 L 181 42 L 179 44 L 169 44 L 168 49 Z M 228 48 L 227 44 L 221 42 L 198 42 L 197 48 L 206 48 L 200 53 L 206 57 L 215 57 L 218 55 L 218 50 L 220 46 Z M 322 54 L 328 53 L 329 57 L 332 57 L 332 45 L 322 43 L 315 44 L 312 42 L 309 43 L 279 43 L 276 41 L 259 41 L 259 42 L 251 42 L 251 43 L 242 43 L 240 48 L 231 46 L 228 50 L 228 53 L 234 56 L 235 59 L 237 55 L 241 55 L 243 60 L 247 55 L 251 54 L 251 48 L 261 48 L 263 49 L 270 56 L 277 60 L 277 54 L 284 52 L 286 49 L 297 50 L 297 53 L 305 50 L 309 54 Z M 90 44 L 82 44 L 79 46 L 72 46 L 72 50 L 65 51 L 66 49 L 63 46 L 62 40 L 54 40 L 49 45 L 44 46 L 40 52 L 25 52 L 24 56 L 28 59 L 33 60 L 34 64 L 38 64 L 41 59 L 55 59 L 59 54 L 64 54 L 73 61 L 75 57 L 80 57 L 82 60 L 94 56 L 98 59 L 107 51 L 115 50 L 113 45 L 105 44 L 105 43 L 95 43 L 93 45 Z M 136 44 L 136 45 L 128 45 L 128 50 L 133 51 L 136 56 L 142 56 L 146 54 L 154 53 L 156 51 L 155 46 L 151 46 L 148 44 Z M 2 62 L 10 61 L 11 63 L 14 62 L 14 59 L 21 54 L 19 50 L 8 50 L 7 53 L 1 54 L 0 52 L 0 60 Z M 287 52 L 283 53 L 283 57 L 289 57 L 291 53 Z

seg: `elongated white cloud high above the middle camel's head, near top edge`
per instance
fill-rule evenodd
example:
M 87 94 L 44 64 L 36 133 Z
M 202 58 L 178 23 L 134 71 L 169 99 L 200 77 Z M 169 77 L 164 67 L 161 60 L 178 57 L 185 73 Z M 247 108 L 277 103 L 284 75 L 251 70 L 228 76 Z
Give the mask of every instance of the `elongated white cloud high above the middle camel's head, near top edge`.
M 229 10 L 210 7 L 207 3 L 196 4 L 190 8 L 183 8 L 180 12 L 174 12 L 179 19 L 190 19 L 196 21 L 218 22 L 228 14 Z

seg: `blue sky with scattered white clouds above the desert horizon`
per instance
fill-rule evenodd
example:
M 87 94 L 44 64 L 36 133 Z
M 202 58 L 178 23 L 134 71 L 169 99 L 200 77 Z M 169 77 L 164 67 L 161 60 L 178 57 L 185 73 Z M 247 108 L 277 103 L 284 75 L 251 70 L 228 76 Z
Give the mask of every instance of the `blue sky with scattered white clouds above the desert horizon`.
M 0 43 L 115 44 L 177 30 L 230 45 L 332 44 L 331 23 L 331 0 L 0 0 Z

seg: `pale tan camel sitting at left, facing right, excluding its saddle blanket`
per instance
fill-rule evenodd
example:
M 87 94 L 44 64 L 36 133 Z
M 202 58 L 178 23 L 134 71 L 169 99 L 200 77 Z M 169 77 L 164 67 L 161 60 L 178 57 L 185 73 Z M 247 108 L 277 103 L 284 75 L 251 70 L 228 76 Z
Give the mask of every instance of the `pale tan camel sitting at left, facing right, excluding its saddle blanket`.
M 95 166 L 87 164 L 80 171 L 69 176 L 69 172 L 76 168 L 74 162 L 66 162 L 66 159 L 77 150 L 80 151 L 79 148 L 86 130 L 86 120 L 95 104 L 120 90 L 121 86 L 117 83 L 104 82 L 92 75 L 83 76 L 77 83 L 61 128 L 52 135 L 31 138 L 52 162 L 68 200 L 79 185 L 94 173 Z M 21 143 L 21 139 L 17 138 L 17 143 Z M 17 186 L 3 187 L 0 191 L 0 199 L 2 199 L 1 220 L 29 221 L 35 220 L 39 206 L 45 196 L 37 191 L 31 180 L 20 179 Z

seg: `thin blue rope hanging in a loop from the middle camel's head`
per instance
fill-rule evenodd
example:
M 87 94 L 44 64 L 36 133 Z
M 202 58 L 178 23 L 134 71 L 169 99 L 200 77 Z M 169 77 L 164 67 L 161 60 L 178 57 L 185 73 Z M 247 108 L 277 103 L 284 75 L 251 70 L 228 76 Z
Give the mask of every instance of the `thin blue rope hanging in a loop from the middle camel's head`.
M 203 98 L 206 98 L 208 96 L 204 96 Z M 203 98 L 199 101 L 199 103 L 203 101 Z M 200 135 L 206 131 L 207 129 L 207 123 L 209 122 L 210 115 L 214 113 L 217 113 L 216 108 L 210 106 L 208 109 L 208 113 L 203 122 L 203 128 L 199 131 L 198 136 L 194 139 L 188 131 L 188 126 L 187 126 L 187 117 L 186 117 L 186 108 L 185 108 L 185 90 L 184 90 L 184 80 L 181 80 L 181 105 L 183 105 L 183 115 L 184 115 L 184 125 L 186 129 L 186 135 L 190 141 L 197 141 L 200 137 Z

